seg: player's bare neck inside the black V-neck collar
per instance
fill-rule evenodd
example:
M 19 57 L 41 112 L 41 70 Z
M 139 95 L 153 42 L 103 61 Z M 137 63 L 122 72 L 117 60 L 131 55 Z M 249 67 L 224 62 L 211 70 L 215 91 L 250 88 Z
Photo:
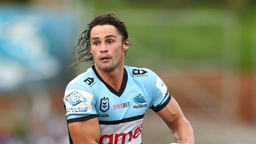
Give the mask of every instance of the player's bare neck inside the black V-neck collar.
M 111 72 L 104 72 L 103 70 L 100 70 L 96 65 L 95 69 L 97 70 L 98 74 L 100 75 L 100 78 L 102 78 L 108 85 L 110 85 L 115 91 L 119 92 L 122 80 L 124 77 L 124 66 L 121 65 L 115 70 Z

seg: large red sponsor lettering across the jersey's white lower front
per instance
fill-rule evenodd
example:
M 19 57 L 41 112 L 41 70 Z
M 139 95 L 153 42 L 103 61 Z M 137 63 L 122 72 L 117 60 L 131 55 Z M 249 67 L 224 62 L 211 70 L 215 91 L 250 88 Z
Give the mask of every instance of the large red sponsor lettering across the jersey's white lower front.
M 115 133 L 111 135 L 102 135 L 100 137 L 99 144 L 104 144 L 106 142 L 108 142 L 108 144 L 124 144 L 126 143 L 127 138 L 129 138 L 128 142 L 130 142 L 132 139 L 139 137 L 139 135 L 141 134 L 142 127 L 143 126 L 141 124 L 139 127 L 135 129 L 135 131 L 130 131 L 128 133 Z

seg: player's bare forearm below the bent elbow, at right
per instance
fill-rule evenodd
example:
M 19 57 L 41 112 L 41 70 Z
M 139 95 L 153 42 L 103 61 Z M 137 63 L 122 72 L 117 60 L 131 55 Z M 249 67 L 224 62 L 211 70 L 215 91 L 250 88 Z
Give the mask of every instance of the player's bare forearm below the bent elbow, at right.
M 179 144 L 194 144 L 193 129 L 185 117 L 179 118 L 176 123 L 170 127 L 174 140 Z

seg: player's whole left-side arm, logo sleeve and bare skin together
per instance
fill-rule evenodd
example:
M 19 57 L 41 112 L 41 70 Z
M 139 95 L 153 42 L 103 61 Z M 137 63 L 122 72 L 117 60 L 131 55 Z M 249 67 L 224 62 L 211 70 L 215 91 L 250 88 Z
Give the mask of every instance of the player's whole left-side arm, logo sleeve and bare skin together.
M 69 84 L 63 98 L 70 143 L 98 144 L 100 126 L 95 109 L 96 94 L 80 84 Z

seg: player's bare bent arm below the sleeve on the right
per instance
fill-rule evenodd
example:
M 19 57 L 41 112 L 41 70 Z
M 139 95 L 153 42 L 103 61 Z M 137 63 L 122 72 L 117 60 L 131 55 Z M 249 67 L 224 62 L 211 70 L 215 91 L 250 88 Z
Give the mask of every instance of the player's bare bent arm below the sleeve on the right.
M 170 102 L 157 114 L 163 119 L 179 144 L 194 144 L 193 129 L 182 113 L 180 106 L 172 97 Z

